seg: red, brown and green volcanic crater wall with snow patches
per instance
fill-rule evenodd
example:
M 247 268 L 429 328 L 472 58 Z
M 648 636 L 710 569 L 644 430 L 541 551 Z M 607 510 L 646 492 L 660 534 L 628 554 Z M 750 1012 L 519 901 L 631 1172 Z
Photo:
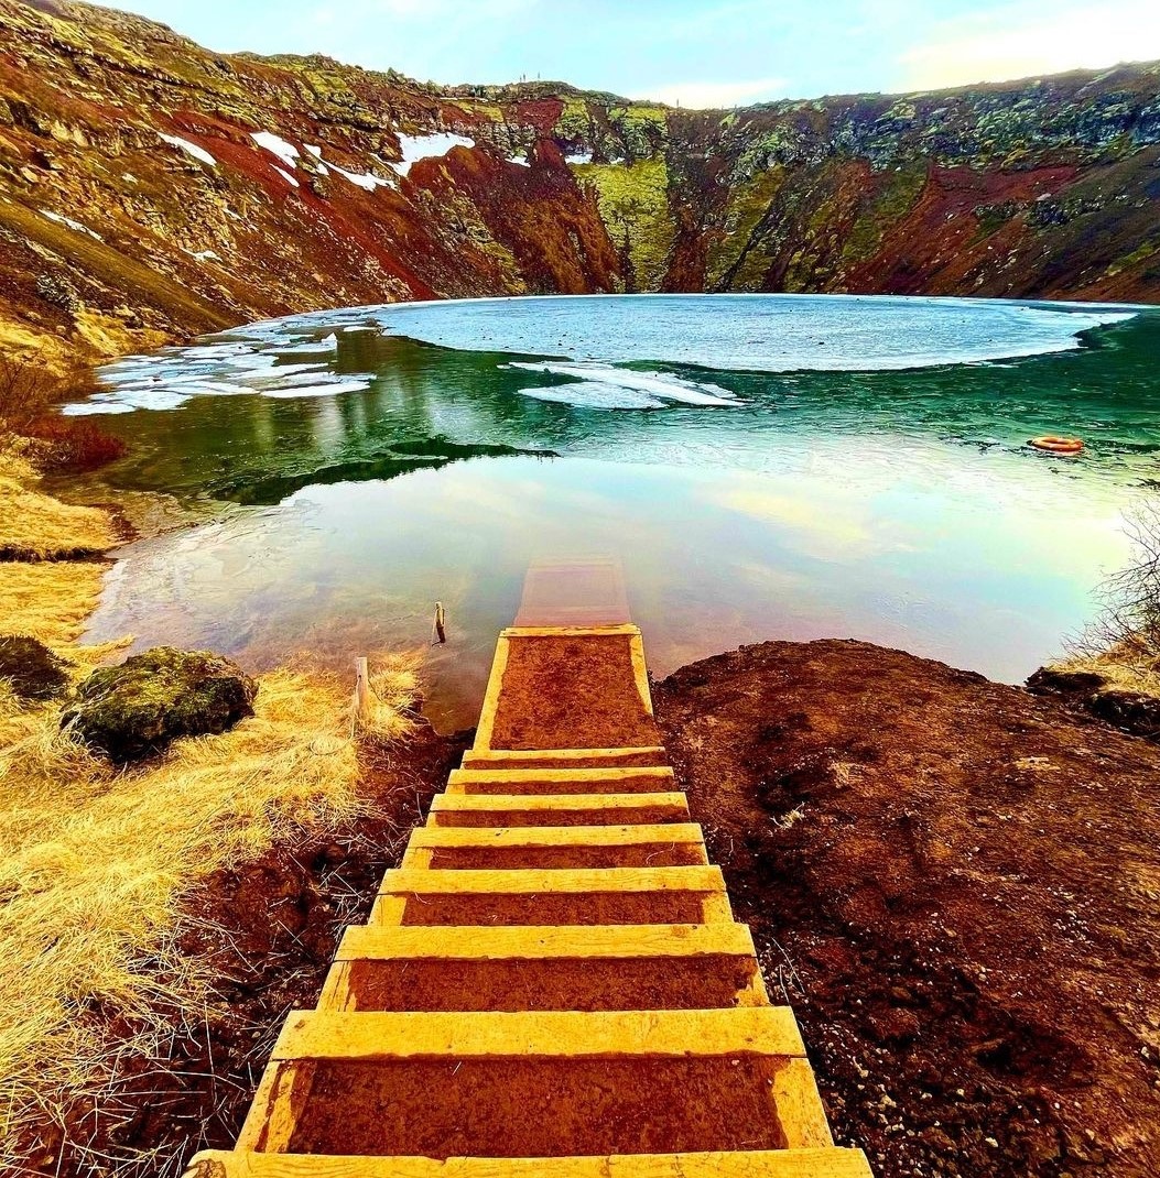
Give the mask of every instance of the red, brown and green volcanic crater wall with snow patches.
M 1160 65 L 679 111 L 0 0 L 0 346 L 534 292 L 1154 299 Z

